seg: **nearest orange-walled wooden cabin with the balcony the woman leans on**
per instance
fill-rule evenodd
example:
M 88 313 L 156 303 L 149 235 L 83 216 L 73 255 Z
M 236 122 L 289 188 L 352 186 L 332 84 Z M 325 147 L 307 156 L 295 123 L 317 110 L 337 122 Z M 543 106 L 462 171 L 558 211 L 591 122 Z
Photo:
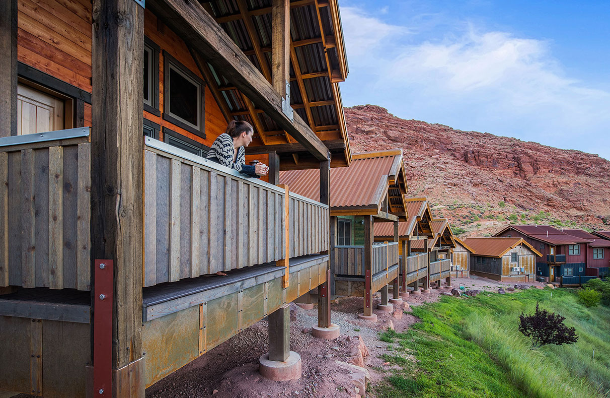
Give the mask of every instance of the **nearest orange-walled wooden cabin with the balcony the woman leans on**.
M 7 0 L 0 26 L 0 389 L 143 397 L 265 316 L 282 363 L 314 288 L 329 327 L 336 0 Z M 268 178 L 204 158 L 230 120 Z

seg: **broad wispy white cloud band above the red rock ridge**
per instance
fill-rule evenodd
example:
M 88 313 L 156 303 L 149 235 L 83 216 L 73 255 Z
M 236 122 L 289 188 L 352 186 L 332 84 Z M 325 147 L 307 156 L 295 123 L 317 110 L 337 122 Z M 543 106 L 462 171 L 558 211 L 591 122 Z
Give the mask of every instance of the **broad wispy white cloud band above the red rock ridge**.
M 549 42 L 456 21 L 441 40 L 414 43 L 406 34 L 417 26 L 390 25 L 353 7 L 342 14 L 356 78 L 343 85 L 346 104 L 375 103 L 400 117 L 562 148 L 590 150 L 597 142 L 610 158 L 610 93 L 565 76 Z M 351 84 L 357 89 L 345 90 Z

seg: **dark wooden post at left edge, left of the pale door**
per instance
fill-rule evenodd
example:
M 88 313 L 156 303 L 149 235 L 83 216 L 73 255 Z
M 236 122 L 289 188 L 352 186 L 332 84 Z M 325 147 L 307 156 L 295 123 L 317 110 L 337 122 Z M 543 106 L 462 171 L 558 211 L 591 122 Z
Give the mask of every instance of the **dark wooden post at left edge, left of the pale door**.
M 17 135 L 17 0 L 0 2 L 0 137 Z

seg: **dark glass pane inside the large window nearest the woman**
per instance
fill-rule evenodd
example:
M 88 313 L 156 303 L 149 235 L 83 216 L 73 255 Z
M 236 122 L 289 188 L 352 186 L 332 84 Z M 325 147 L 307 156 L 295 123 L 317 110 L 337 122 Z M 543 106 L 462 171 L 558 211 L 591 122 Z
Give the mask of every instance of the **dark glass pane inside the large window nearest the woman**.
M 170 68 L 170 113 L 198 127 L 199 95 L 197 88 L 197 85 Z

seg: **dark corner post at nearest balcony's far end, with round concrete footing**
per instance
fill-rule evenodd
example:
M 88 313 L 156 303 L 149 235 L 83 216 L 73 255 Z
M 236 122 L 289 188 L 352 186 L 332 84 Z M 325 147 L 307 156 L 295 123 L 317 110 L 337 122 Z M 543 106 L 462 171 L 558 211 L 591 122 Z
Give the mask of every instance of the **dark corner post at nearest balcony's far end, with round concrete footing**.
M 328 154 L 328 160 L 320 162 L 320 203 L 330 204 L 330 183 L 331 183 L 331 154 Z M 329 209 L 330 213 L 330 209 Z M 331 222 L 334 222 L 336 217 L 329 217 Z M 329 231 L 329 255 L 334 255 L 334 228 L 332 235 Z M 329 261 L 329 264 L 334 265 L 334 261 Z M 312 335 L 317 338 L 332 340 L 339 338 L 339 325 L 331 323 L 331 269 L 326 269 L 326 278 L 324 283 L 318 286 L 318 325 L 312 327 Z

